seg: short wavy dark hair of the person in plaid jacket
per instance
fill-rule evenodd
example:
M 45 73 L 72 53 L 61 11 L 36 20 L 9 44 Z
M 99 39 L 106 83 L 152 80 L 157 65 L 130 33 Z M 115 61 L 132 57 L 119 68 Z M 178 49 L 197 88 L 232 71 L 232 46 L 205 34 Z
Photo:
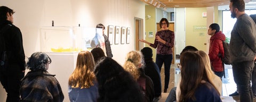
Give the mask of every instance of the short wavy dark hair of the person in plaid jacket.
M 51 58 L 47 54 L 42 52 L 36 52 L 32 54 L 28 59 L 29 60 L 27 62 L 27 69 L 29 69 L 30 71 L 45 71 L 47 70 L 45 65 L 52 62 Z

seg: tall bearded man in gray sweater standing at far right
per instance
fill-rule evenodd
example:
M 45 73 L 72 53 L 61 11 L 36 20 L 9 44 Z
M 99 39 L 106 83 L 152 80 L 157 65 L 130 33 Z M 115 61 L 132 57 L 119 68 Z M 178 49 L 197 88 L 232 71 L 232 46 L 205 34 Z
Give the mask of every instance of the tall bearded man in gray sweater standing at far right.
M 231 18 L 236 18 L 229 45 L 234 81 L 240 101 L 251 102 L 251 72 L 256 60 L 256 25 L 244 11 L 244 0 L 230 0 L 229 8 Z

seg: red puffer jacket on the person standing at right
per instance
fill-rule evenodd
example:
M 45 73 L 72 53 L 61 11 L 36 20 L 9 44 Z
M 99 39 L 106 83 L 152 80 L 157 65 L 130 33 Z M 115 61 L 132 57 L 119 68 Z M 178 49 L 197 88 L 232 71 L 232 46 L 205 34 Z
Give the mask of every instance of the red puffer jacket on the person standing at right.
M 213 66 L 214 72 L 222 72 L 223 65 L 220 57 L 218 54 L 220 53 L 223 57 L 224 55 L 224 48 L 222 41 L 226 39 L 226 36 L 221 32 L 215 33 L 210 38 L 210 48 L 209 48 L 209 57 L 211 61 L 211 65 Z

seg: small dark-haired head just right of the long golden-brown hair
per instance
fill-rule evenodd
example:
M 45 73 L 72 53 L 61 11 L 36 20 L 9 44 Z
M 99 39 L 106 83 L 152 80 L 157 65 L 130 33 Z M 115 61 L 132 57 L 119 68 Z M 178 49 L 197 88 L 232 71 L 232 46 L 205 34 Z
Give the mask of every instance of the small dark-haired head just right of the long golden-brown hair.
M 91 50 L 91 53 L 92 53 L 95 64 L 100 60 L 101 57 L 105 57 L 105 54 L 100 47 L 93 48 Z

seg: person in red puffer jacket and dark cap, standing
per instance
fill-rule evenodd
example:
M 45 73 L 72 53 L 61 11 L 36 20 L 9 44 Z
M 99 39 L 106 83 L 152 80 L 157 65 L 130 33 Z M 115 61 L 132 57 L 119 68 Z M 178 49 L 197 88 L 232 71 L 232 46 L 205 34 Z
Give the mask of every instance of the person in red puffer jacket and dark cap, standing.
M 210 38 L 210 48 L 209 48 L 209 57 L 212 65 L 212 70 L 214 73 L 220 77 L 223 77 L 223 65 L 220 59 L 219 54 L 223 57 L 224 55 L 224 48 L 222 41 L 226 40 L 226 36 L 220 31 L 220 26 L 217 23 L 212 23 L 208 29 L 208 35 L 211 36 Z

